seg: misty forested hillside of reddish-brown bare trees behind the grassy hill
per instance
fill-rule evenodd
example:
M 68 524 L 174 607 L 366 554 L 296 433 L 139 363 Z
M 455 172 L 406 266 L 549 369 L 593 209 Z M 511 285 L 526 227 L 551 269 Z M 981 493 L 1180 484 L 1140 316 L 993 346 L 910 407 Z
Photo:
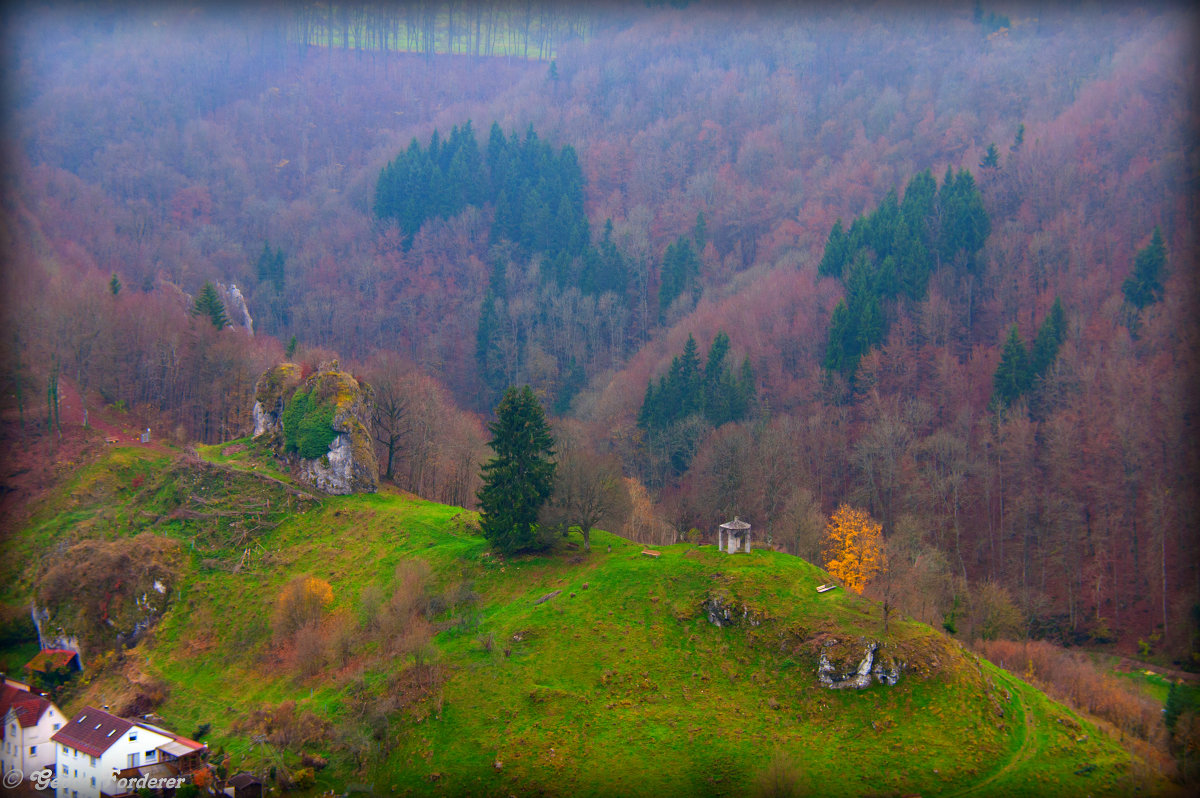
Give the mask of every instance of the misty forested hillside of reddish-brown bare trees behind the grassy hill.
M 404 13 L 8 12 L 23 445 L 60 380 L 229 439 L 284 352 L 336 354 L 380 470 L 469 504 L 530 384 L 630 534 L 739 515 L 821 562 L 848 503 L 920 620 L 1195 665 L 1182 5 Z

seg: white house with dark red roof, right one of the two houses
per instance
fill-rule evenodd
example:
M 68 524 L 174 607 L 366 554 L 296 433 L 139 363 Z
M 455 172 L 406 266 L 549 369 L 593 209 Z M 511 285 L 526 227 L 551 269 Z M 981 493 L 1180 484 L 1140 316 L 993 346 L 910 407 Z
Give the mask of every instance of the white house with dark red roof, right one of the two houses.
M 101 798 L 137 792 L 146 779 L 178 786 L 203 767 L 206 745 L 150 724 L 86 707 L 52 738 L 58 798 Z M 172 784 L 163 784 L 164 780 Z M 140 781 L 139 781 L 140 780 Z

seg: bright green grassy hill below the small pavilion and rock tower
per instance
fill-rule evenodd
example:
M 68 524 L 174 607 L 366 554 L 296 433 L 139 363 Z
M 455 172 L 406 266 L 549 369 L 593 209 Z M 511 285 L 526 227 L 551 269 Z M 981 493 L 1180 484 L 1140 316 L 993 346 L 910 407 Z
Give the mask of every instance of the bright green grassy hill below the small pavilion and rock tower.
M 103 670 L 65 709 L 152 706 L 185 734 L 209 725 L 230 772 L 274 768 L 313 793 L 746 794 L 772 778 L 827 796 L 1169 792 L 941 632 L 893 619 L 884 635 L 875 604 L 817 594 L 828 576 L 796 557 L 652 558 L 596 532 L 589 556 L 563 541 L 502 559 L 473 514 L 318 497 L 247 442 L 199 458 L 113 448 L 74 470 L 10 536 L 4 599 L 94 551 L 80 540 L 144 532 L 178 542 L 151 564 L 166 612 L 122 655 L 89 653 Z M 296 577 L 331 599 L 318 628 L 284 634 Z M 739 623 L 712 624 L 713 602 Z M 822 688 L 821 654 L 863 641 L 907 664 L 899 684 Z

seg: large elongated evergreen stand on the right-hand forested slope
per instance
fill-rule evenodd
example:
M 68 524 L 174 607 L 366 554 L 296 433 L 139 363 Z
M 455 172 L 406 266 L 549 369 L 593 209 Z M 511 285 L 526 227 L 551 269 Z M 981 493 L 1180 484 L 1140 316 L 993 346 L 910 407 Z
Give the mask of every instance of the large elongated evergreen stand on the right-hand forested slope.
M 817 274 L 846 286 L 829 322 L 824 367 L 847 377 L 887 336 L 887 311 L 899 298 L 920 301 L 930 275 L 942 266 L 976 274 L 991 222 L 974 178 L 946 170 L 941 187 L 926 169 L 908 181 L 904 202 L 888 192 L 850 230 L 838 220 Z

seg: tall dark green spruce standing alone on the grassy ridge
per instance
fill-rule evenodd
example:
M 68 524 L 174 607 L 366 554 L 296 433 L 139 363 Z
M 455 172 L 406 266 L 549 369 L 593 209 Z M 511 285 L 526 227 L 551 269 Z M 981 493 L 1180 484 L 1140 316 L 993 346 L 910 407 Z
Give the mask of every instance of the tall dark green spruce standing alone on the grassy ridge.
M 508 389 L 487 428 L 496 456 L 478 493 L 484 536 L 503 552 L 544 547 L 538 512 L 554 490 L 554 438 L 533 390 Z

